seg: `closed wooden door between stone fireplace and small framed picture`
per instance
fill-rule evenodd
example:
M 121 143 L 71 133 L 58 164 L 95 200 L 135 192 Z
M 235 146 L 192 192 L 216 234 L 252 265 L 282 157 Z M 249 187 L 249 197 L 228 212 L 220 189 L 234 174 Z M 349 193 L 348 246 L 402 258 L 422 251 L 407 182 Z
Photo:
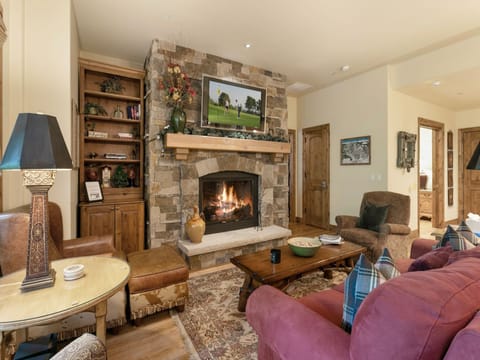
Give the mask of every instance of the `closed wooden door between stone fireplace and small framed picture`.
M 303 129 L 303 219 L 330 226 L 330 126 Z

